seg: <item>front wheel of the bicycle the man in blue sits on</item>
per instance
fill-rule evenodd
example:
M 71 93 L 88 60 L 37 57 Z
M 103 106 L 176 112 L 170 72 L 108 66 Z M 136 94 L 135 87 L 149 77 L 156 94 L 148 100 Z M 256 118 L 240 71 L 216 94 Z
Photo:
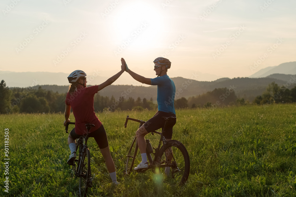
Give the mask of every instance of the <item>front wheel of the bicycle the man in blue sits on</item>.
M 136 164 L 141 161 L 141 157 L 138 155 L 137 156 L 137 152 L 138 152 L 138 143 L 137 143 L 137 138 L 135 136 L 135 138 L 133 139 L 133 142 L 131 143 L 131 148 L 128 151 L 127 156 L 127 160 L 126 160 L 126 174 L 131 173 L 131 171 L 133 170 L 134 166 L 133 164 L 136 161 Z M 140 163 L 140 162 L 139 162 Z

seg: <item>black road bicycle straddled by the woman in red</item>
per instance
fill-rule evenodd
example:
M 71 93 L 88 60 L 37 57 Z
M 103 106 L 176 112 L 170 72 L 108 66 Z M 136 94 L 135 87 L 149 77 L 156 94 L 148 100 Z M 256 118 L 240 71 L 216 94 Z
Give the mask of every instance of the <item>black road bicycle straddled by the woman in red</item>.
M 66 133 L 68 133 L 69 124 L 75 124 L 73 122 L 66 123 Z M 86 133 L 93 127 L 93 124 L 86 124 Z M 88 188 L 91 188 L 93 177 L 91 177 L 91 156 L 87 147 L 87 140 L 89 136 L 81 136 L 76 142 L 76 152 L 79 147 L 78 159 L 75 159 L 72 165 L 73 173 L 76 177 L 79 177 L 79 196 L 86 197 Z

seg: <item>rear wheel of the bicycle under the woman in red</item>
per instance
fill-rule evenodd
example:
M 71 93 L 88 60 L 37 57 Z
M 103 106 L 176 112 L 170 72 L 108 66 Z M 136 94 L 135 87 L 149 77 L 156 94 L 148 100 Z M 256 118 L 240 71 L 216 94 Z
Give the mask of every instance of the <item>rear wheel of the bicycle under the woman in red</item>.
M 86 149 L 82 154 L 80 162 L 80 177 L 79 177 L 79 195 L 86 197 L 87 189 L 89 188 L 91 178 L 91 156 L 89 149 Z

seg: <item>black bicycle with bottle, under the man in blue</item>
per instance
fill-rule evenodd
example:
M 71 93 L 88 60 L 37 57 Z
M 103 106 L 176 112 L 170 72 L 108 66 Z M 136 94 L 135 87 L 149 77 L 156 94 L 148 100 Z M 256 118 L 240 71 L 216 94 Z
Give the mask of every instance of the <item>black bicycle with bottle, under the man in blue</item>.
M 163 118 L 165 118 L 165 125 L 163 128 L 163 131 L 165 131 L 166 124 L 176 117 Z M 125 128 L 127 126 L 128 120 L 139 122 L 139 127 L 145 123 L 145 121 L 129 118 L 129 116 L 127 116 L 126 122 L 124 124 Z M 150 165 L 148 165 L 148 168 L 137 170 L 137 172 L 145 172 L 146 170 L 152 169 L 152 172 L 156 174 L 162 174 L 165 177 L 170 178 L 170 181 L 173 185 L 184 185 L 188 179 L 190 170 L 189 154 L 185 146 L 177 140 L 166 141 L 162 132 L 151 132 L 152 135 L 154 135 L 154 133 L 160 135 L 160 140 L 156 149 L 154 147 L 152 148 L 149 139 L 146 139 L 146 153 Z M 133 170 L 135 160 L 140 163 L 141 157 L 139 155 L 137 156 L 137 152 L 138 144 L 137 136 L 135 136 L 128 154 L 126 155 L 126 174 L 130 174 Z M 152 159 L 151 154 L 154 154 L 154 159 Z M 170 167 L 170 171 L 168 172 L 168 170 L 165 170 L 165 167 Z

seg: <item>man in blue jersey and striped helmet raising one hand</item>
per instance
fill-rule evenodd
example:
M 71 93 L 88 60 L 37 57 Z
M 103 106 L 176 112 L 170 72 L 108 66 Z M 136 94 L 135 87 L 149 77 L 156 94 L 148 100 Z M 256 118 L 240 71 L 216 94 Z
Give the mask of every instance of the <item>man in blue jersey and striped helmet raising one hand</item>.
M 125 60 L 121 58 L 122 65 L 126 65 Z M 155 131 L 164 127 L 165 119 L 163 117 L 176 117 L 176 112 L 174 108 L 174 97 L 176 93 L 176 87 L 173 80 L 167 75 L 167 71 L 171 66 L 171 62 L 167 58 L 159 57 L 154 61 L 154 71 L 157 75 L 156 78 L 145 78 L 139 74 L 134 73 L 128 69 L 126 65 L 126 72 L 130 74 L 138 82 L 148 84 L 148 85 L 157 85 L 157 105 L 158 111 L 155 115 L 150 118 L 144 125 L 142 125 L 137 131 L 137 142 L 141 152 L 142 161 L 141 163 L 134 168 L 134 170 L 139 170 L 142 168 L 147 168 L 149 162 L 147 162 L 146 154 L 146 141 L 145 136 L 151 131 Z M 176 119 L 170 124 L 167 123 L 166 131 L 163 133 L 163 136 L 167 141 L 172 139 L 173 135 L 173 126 L 176 124 Z M 169 154 L 168 159 L 171 159 L 171 154 Z M 165 173 L 169 173 L 170 168 L 166 167 Z

